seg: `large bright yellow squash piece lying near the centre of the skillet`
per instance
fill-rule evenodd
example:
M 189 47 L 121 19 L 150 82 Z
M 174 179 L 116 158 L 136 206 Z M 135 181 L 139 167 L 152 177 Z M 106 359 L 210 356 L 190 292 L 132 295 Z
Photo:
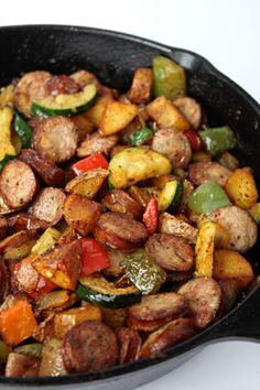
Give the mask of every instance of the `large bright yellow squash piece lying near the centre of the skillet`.
M 109 181 L 115 188 L 123 188 L 151 177 L 170 174 L 171 162 L 164 155 L 149 149 L 128 148 L 110 161 Z

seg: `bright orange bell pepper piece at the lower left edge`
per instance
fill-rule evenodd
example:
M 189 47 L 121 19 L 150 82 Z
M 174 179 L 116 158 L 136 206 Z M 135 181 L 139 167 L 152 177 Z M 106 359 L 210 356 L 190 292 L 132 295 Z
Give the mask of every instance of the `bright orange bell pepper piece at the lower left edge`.
M 0 311 L 0 334 L 11 347 L 31 337 L 36 326 L 32 306 L 24 299 L 13 296 L 11 304 Z

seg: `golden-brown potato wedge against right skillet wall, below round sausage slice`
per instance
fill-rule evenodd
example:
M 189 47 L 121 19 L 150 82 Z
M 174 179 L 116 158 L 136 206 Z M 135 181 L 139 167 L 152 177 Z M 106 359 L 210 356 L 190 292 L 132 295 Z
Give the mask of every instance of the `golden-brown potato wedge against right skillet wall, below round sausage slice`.
M 220 249 L 214 253 L 213 278 L 235 279 L 245 289 L 253 279 L 251 264 L 235 250 Z

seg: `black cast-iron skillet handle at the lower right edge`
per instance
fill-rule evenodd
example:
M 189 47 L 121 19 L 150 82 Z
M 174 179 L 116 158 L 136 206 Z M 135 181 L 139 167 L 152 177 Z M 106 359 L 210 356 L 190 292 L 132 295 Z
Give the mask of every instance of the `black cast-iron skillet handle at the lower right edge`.
M 260 286 L 235 311 L 216 324 L 210 339 L 249 338 L 260 342 Z

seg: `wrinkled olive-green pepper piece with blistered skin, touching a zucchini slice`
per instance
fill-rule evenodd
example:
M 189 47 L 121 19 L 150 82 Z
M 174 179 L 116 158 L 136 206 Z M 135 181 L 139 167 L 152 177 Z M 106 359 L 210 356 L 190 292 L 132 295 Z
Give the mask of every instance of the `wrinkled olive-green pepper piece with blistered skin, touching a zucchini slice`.
M 155 293 L 166 281 L 166 273 L 152 256 L 139 249 L 121 261 L 127 277 L 143 294 Z

